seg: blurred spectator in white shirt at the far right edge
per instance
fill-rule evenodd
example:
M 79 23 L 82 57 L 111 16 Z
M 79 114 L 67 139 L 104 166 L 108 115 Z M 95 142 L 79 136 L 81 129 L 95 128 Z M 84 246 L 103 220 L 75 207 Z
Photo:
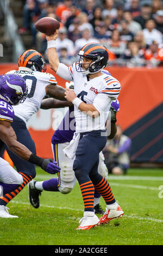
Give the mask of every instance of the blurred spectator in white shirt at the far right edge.
M 143 29 L 143 35 L 147 45 L 151 45 L 154 40 L 158 44 L 162 43 L 162 34 L 155 28 L 154 20 L 146 21 L 146 28 Z

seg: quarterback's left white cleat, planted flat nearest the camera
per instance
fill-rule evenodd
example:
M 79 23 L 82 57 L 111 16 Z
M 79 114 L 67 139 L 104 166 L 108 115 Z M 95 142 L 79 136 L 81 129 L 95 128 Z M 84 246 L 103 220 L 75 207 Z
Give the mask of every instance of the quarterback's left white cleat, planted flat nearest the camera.
M 92 211 L 85 211 L 84 217 L 79 221 L 80 225 L 77 229 L 90 229 L 99 225 L 99 218 Z

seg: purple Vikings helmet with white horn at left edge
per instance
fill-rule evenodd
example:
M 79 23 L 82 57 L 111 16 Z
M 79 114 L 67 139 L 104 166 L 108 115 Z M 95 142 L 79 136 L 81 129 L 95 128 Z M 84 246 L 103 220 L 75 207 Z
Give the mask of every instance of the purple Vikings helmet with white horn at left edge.
M 0 76 L 0 98 L 11 105 L 24 102 L 28 95 L 26 81 L 17 74 L 5 74 Z

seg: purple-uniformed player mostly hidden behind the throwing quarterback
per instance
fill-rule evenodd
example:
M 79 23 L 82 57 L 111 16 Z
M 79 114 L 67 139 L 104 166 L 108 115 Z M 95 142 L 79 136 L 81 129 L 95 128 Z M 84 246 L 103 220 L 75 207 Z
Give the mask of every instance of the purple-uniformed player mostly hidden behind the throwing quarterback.
M 109 72 L 105 72 L 105 74 L 110 74 Z M 66 83 L 67 86 L 73 89 L 73 82 Z M 70 102 L 71 103 L 71 102 Z M 71 103 L 72 104 L 72 103 Z M 41 103 L 41 108 L 49 109 L 49 108 L 58 108 L 62 107 L 62 101 L 56 100 L 53 98 L 43 99 Z M 111 134 L 108 136 L 108 139 L 112 139 L 116 133 L 116 112 L 120 109 L 120 103 L 118 100 L 112 101 L 110 112 L 111 112 Z M 35 181 L 32 180 L 29 182 L 29 200 L 34 208 L 39 208 L 41 192 L 45 191 L 59 191 L 62 194 L 70 193 L 76 184 L 76 176 L 73 172 L 73 160 L 67 157 L 63 149 L 70 144 L 70 141 L 73 138 L 73 134 L 75 131 L 74 124 L 74 106 L 69 107 L 68 111 L 65 114 L 64 119 L 62 119 L 60 125 L 55 130 L 52 136 L 52 151 L 54 160 L 58 162 L 59 167 L 61 168 L 60 173 L 58 173 L 58 178 L 52 178 L 50 180 L 44 181 Z M 104 163 L 104 155 L 101 151 L 99 153 L 99 165 L 98 172 L 104 178 L 108 176 L 108 169 Z M 95 214 L 104 214 L 104 211 L 99 205 L 100 194 L 95 190 L 94 194 L 94 210 Z

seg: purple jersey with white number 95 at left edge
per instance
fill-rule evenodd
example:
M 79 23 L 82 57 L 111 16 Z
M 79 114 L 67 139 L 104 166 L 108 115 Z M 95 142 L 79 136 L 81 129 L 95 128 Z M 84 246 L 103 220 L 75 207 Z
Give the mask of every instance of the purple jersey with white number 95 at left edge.
M 10 103 L 0 99 L 0 120 L 10 121 L 14 120 L 14 109 Z

